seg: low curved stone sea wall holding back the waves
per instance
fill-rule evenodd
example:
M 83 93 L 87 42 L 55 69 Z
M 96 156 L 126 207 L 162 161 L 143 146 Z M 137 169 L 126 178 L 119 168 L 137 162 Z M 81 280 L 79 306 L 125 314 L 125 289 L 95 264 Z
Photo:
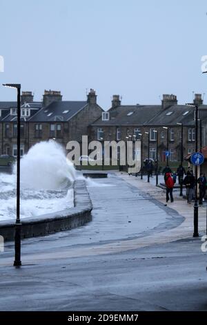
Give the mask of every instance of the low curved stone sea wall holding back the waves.
M 21 220 L 21 238 L 44 236 L 54 232 L 77 228 L 91 220 L 92 203 L 85 180 L 74 182 L 74 207 L 59 212 Z M 0 236 L 14 241 L 15 220 L 0 221 Z

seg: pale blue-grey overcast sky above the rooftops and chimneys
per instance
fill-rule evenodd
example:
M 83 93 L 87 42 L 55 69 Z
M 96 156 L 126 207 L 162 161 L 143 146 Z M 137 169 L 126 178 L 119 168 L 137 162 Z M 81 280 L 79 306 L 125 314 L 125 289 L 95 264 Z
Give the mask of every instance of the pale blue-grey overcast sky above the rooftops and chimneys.
M 123 104 L 179 103 L 206 93 L 206 0 L 0 0 L 0 82 L 18 82 L 41 100 L 44 89 L 63 100 L 97 91 L 103 109 Z M 0 87 L 0 100 L 15 100 Z

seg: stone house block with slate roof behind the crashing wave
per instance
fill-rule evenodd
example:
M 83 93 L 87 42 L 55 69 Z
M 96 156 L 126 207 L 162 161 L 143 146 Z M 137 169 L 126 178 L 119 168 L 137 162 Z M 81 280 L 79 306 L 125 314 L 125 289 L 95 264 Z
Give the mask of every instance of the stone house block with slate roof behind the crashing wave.
M 93 89 L 85 101 L 63 101 L 60 91 L 45 91 L 42 102 L 31 92 L 21 95 L 21 155 L 37 142 L 68 141 L 87 135 L 88 126 L 103 112 Z M 0 102 L 0 153 L 17 155 L 17 102 Z

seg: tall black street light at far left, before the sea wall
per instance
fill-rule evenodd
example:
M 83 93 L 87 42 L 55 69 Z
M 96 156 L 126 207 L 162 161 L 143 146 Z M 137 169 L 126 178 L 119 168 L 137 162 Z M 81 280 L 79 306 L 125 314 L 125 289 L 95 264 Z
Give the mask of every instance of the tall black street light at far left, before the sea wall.
M 14 236 L 14 266 L 21 266 L 21 221 L 20 221 L 20 117 L 21 117 L 21 84 L 3 84 L 17 89 L 17 216 Z

